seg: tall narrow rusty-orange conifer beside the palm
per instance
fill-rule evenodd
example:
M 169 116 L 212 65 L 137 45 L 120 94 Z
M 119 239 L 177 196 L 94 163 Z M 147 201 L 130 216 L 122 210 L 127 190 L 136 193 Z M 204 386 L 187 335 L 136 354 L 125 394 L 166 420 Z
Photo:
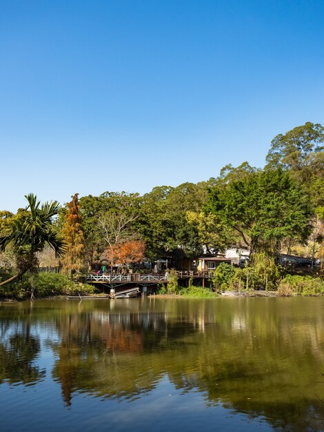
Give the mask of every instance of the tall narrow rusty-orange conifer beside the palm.
M 62 259 L 63 273 L 70 275 L 81 270 L 85 247 L 78 195 L 75 193 L 72 201 L 68 203 L 68 212 L 63 225 L 65 240 L 65 255 Z

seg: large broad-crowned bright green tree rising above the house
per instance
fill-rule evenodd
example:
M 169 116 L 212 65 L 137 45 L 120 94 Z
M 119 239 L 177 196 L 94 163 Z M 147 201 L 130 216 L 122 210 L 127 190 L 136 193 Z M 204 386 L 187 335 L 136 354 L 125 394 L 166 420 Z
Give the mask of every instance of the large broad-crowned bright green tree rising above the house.
M 285 238 L 304 242 L 311 230 L 310 198 L 281 168 L 211 188 L 205 211 L 236 230 L 251 254 L 278 249 Z

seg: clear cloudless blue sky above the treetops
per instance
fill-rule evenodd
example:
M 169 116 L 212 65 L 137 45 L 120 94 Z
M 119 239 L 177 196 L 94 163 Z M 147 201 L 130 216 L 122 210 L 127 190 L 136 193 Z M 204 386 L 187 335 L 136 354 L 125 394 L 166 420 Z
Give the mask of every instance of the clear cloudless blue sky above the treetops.
M 323 0 L 1 0 L 0 209 L 263 166 L 324 123 Z

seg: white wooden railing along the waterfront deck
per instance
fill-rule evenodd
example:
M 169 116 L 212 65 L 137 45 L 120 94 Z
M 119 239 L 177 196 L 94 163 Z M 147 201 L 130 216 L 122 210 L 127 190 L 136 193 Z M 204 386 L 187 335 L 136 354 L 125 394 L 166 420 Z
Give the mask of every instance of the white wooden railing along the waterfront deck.
M 214 273 L 205 271 L 196 273 L 193 271 L 177 271 L 176 275 L 179 280 L 185 279 L 211 279 Z M 141 275 L 140 273 L 128 273 L 127 275 L 110 275 L 110 274 L 90 274 L 86 277 L 88 284 L 168 284 L 170 280 L 170 273 L 150 273 L 147 275 Z

